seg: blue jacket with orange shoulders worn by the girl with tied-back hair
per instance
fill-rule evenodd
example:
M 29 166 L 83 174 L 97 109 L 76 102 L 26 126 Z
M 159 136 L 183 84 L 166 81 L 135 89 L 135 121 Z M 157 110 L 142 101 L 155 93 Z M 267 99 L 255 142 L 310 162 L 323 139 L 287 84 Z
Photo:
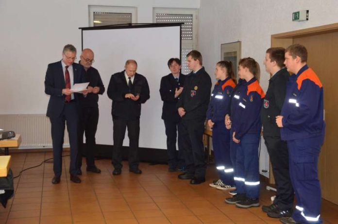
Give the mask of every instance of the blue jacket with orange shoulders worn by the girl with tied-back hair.
M 236 84 L 228 77 L 219 80 L 211 93 L 208 110 L 206 111 L 207 120 L 213 122 L 224 121 L 224 117 L 229 113 L 230 94 Z

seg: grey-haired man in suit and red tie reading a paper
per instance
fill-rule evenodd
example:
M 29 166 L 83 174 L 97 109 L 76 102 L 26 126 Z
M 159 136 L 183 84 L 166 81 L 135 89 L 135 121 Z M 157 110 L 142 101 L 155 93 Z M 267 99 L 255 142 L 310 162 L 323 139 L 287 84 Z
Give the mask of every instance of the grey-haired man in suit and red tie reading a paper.
M 76 48 L 66 45 L 62 52 L 62 60 L 48 65 L 45 78 L 45 93 L 50 95 L 47 117 L 51 120 L 51 138 L 53 144 L 53 184 L 60 183 L 62 172 L 62 145 L 65 134 L 65 121 L 70 144 L 70 180 L 81 183 L 77 176 L 76 157 L 78 152 L 78 95 L 71 87 L 84 82 L 84 68 L 74 63 Z M 83 94 L 86 94 L 83 91 Z

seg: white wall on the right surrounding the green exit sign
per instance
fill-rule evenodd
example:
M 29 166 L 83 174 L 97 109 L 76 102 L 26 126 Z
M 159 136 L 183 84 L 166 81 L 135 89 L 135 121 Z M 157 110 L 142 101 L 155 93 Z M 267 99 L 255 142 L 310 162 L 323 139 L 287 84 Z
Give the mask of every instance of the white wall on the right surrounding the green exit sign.
M 253 57 L 261 67 L 260 84 L 268 88 L 265 51 L 271 34 L 338 22 L 337 0 L 201 0 L 199 50 L 203 64 L 213 74 L 220 60 L 220 45 L 242 42 L 242 57 Z M 309 10 L 309 20 L 292 22 L 292 13 Z

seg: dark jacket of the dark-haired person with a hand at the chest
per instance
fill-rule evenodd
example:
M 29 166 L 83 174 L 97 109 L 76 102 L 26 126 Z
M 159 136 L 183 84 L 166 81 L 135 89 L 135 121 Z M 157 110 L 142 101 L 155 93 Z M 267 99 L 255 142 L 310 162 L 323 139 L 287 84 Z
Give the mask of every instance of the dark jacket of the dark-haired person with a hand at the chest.
M 174 76 L 170 73 L 169 75 L 163 76 L 161 79 L 160 94 L 163 101 L 162 107 L 162 119 L 169 121 L 180 121 L 181 117 L 178 114 L 176 103 L 178 102 L 177 97 L 175 98 L 176 88 L 183 87 L 186 79 L 186 75 L 180 73 L 178 82 L 176 82 Z

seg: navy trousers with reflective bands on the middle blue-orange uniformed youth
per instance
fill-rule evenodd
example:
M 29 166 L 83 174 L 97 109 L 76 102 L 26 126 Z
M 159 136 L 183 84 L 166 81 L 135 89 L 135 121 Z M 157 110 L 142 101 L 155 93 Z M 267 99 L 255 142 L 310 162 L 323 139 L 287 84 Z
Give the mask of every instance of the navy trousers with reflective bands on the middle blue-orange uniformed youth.
M 260 133 L 245 134 L 236 146 L 236 189 L 248 198 L 259 197 L 259 140 Z

